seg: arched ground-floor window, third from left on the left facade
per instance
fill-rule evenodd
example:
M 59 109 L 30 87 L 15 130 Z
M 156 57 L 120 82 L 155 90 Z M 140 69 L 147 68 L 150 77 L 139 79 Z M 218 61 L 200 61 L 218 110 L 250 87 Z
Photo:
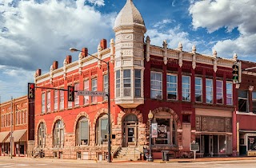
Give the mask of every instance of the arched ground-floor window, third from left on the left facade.
M 88 145 L 89 144 L 89 124 L 86 117 L 81 117 L 78 120 L 76 127 L 76 145 Z

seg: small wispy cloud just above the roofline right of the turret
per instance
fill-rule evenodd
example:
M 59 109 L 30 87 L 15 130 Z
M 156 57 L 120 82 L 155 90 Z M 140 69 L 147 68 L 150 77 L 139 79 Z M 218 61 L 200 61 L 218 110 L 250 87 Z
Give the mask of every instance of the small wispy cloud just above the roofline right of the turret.
M 149 29 L 146 34 L 150 37 L 151 45 L 162 46 L 164 40 L 168 43 L 168 48 L 177 49 L 178 43 L 182 42 L 183 50 L 190 52 L 193 45 L 198 45 L 198 41 L 190 41 L 189 33 L 180 31 L 180 27 L 161 31 L 159 29 Z

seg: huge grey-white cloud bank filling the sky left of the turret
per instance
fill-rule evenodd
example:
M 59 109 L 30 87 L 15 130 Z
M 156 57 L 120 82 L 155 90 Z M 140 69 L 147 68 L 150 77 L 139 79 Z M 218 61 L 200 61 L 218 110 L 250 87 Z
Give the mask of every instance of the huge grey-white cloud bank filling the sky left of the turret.
M 87 47 L 89 53 L 94 53 L 102 38 L 114 37 L 116 14 L 103 15 L 85 2 L 1 0 L 0 96 L 26 95 L 34 71 L 42 68 L 48 72 L 53 61 L 62 66 L 70 47 Z M 90 2 L 104 5 L 103 0 Z M 74 53 L 73 61 L 77 59 L 78 53 Z

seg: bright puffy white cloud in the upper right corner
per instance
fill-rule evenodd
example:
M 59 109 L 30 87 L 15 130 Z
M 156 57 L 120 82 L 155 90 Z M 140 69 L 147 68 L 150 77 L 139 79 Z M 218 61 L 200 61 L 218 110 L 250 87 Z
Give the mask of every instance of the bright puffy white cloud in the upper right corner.
M 202 27 L 212 33 L 225 27 L 226 32 L 231 33 L 238 28 L 240 36 L 237 39 L 218 41 L 214 45 L 218 53 L 223 56 L 238 53 L 241 57 L 255 55 L 256 1 L 205 0 L 192 3 L 189 10 L 194 29 Z

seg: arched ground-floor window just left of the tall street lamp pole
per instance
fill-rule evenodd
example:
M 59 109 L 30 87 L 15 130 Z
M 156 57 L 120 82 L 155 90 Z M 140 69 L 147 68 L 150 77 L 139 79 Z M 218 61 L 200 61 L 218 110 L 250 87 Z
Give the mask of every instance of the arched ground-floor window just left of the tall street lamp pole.
M 98 119 L 96 131 L 96 144 L 107 143 L 107 115 L 102 115 L 102 117 Z

